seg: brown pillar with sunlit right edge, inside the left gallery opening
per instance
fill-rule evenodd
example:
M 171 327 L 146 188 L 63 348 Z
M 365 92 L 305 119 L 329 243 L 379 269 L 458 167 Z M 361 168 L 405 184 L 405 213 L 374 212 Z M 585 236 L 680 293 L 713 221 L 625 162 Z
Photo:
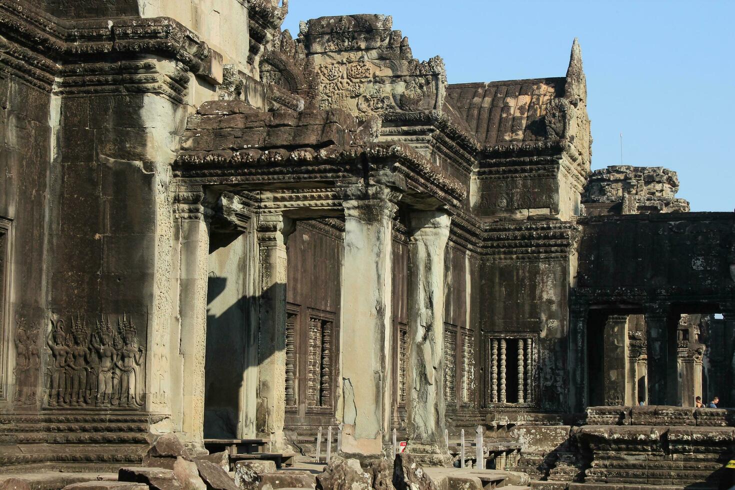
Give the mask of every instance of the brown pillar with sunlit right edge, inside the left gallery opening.
M 603 333 L 605 405 L 625 403 L 625 367 L 628 363 L 628 315 L 611 315 Z

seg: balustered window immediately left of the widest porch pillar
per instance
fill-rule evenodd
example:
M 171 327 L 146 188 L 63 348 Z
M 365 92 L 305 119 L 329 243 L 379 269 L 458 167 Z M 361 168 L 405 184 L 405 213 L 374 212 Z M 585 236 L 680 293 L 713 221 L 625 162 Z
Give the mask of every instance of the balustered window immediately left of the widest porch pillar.
M 309 363 L 307 370 L 307 410 L 331 410 L 334 314 L 309 309 Z

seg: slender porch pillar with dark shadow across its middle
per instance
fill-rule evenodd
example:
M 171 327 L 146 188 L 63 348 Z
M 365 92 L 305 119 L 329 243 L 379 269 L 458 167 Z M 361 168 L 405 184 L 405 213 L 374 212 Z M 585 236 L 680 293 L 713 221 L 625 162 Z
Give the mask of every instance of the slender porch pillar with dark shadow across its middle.
M 293 222 L 276 212 L 260 215 L 260 301 L 257 431 L 274 450 L 284 448 L 286 408 L 286 239 Z

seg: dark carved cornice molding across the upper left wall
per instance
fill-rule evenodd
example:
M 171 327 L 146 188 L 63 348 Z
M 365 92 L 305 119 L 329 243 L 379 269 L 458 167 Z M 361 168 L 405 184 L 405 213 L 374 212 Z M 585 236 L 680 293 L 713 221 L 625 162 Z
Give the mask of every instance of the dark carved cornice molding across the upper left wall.
M 219 56 L 171 18 L 61 21 L 18 0 L 0 0 L 0 35 L 4 44 L 2 68 L 18 72 L 46 91 L 54 88 L 58 78 L 60 95 L 69 93 L 65 90 L 75 93 L 71 87 L 90 84 L 125 85 L 137 87 L 137 91 L 156 90 L 168 80 L 182 85 L 185 77 L 181 73 L 209 76 L 212 57 Z M 181 73 L 154 79 L 150 73 L 153 66 L 137 73 L 141 54 L 176 62 Z M 125 61 L 132 65 L 124 65 Z M 146 86 L 146 82 L 154 86 Z M 177 92 L 173 87 L 171 90 Z

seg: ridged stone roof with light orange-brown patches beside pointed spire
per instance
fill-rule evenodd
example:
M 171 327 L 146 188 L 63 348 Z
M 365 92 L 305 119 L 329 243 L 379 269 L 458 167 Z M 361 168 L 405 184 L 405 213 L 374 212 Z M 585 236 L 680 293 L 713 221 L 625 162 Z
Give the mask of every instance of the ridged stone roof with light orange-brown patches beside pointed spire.
M 565 84 L 564 77 L 451 84 L 447 101 L 482 145 L 531 143 L 546 139 L 542 118 Z

